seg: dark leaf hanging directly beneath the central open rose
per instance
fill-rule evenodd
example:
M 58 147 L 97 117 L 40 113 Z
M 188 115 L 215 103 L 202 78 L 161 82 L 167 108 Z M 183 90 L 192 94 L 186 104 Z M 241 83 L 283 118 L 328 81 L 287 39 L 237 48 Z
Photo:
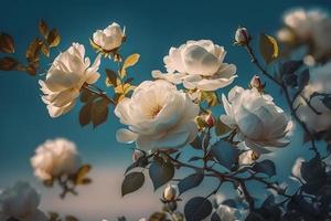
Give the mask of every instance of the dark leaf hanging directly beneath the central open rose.
M 153 182 L 154 190 L 166 185 L 174 176 L 174 166 L 162 158 L 154 158 L 149 167 L 149 176 Z

